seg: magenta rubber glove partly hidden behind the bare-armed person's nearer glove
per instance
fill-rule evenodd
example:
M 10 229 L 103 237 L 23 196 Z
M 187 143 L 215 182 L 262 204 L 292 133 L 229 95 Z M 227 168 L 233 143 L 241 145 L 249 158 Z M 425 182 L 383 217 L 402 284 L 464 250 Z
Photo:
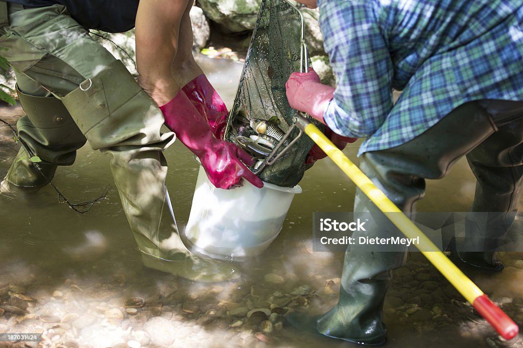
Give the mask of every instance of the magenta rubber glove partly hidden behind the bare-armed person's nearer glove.
M 223 139 L 229 111 L 218 92 L 204 74 L 189 81 L 182 89 L 196 110 L 207 119 L 212 134 Z

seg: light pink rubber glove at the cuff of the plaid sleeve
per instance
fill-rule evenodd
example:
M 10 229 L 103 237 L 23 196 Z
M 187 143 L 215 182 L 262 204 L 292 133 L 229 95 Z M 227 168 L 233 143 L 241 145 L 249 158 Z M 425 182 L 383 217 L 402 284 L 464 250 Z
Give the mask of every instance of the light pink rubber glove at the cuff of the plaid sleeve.
M 323 113 L 334 96 L 334 88 L 323 85 L 312 69 L 309 73 L 292 73 L 285 84 L 287 100 L 293 109 L 303 111 L 325 124 Z

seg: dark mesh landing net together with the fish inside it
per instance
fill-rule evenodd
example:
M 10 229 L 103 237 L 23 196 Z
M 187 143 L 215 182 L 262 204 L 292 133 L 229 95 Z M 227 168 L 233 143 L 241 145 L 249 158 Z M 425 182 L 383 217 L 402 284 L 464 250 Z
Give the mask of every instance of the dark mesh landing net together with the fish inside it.
M 310 63 L 302 51 L 302 35 L 297 8 L 285 0 L 261 3 L 225 133 L 225 140 L 256 159 L 253 172 L 264 182 L 283 187 L 301 180 L 306 155 L 314 145 L 305 134 L 299 136 L 297 127 L 291 129 L 296 110 L 289 105 L 285 88 L 290 74 L 300 71 L 304 60 L 307 66 Z M 323 130 L 322 124 L 308 119 Z M 287 139 L 280 141 L 289 129 Z M 275 147 L 276 152 L 268 156 Z

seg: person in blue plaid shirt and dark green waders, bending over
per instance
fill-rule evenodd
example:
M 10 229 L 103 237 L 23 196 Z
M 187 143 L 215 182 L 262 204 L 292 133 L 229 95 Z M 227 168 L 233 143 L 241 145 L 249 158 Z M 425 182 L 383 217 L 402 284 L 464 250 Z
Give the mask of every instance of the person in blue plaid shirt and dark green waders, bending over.
M 466 156 L 477 179 L 470 211 L 490 213 L 484 221 L 465 219 L 465 242 L 454 254 L 477 269 L 501 271 L 493 250 L 514 221 L 523 177 L 523 3 L 298 1 L 320 8 L 337 87 L 322 85 L 314 71 L 293 73 L 290 105 L 339 135 L 366 138 L 361 170 L 404 212 L 424 196 L 425 179 L 444 177 Z M 402 91 L 395 104 L 393 89 Z M 358 189 L 354 211 L 377 208 Z M 353 236 L 385 234 L 369 221 Z M 327 337 L 383 343 L 385 292 L 405 257 L 352 248 L 338 304 L 288 321 Z

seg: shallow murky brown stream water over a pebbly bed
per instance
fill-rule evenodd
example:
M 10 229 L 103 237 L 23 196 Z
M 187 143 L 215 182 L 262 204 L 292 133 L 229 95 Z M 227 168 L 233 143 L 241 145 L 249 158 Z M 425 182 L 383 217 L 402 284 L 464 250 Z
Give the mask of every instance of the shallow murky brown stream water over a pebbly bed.
M 225 60 L 202 65 L 212 70 L 209 79 L 231 105 L 242 65 Z M 0 160 L 2 175 L 16 152 L 7 146 L 3 151 L 10 158 Z M 357 146 L 345 150 L 353 160 Z M 178 142 L 166 157 L 167 186 L 183 227 L 198 165 Z M 279 237 L 263 255 L 238 263 L 243 277 L 211 285 L 141 265 L 112 183 L 109 156 L 84 147 L 74 165 L 59 169 L 54 183 L 73 202 L 109 191 L 83 215 L 61 205 L 51 187 L 37 195 L 0 196 L 0 307 L 10 306 L 5 313 L 0 310 L 0 332 L 45 332 L 45 346 L 343 345 L 282 323 L 288 308 L 323 313 L 337 301 L 343 253 L 313 253 L 311 242 L 312 212 L 353 207 L 355 187 L 331 161 L 320 161 L 306 172 L 300 183 L 303 193 L 294 197 Z M 449 177 L 428 183 L 427 198 L 418 209 L 467 211 L 473 194 L 473 176 L 461 161 Z M 523 320 L 522 256 L 503 255 L 507 268 L 501 274 L 471 273 L 518 323 Z M 15 315 L 13 307 L 20 313 Z M 254 308 L 261 310 L 253 313 Z M 418 253 L 395 271 L 384 315 L 390 347 L 521 346 L 521 338 L 499 340 Z

